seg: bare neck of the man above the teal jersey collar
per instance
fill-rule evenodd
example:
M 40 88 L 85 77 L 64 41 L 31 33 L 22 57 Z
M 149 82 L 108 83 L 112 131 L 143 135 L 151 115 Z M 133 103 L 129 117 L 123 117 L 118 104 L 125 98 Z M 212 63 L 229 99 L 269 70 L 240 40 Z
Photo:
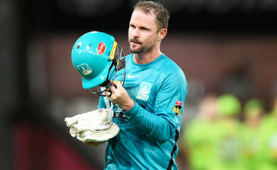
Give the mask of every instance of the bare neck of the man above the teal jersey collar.
M 160 48 L 158 48 L 156 50 L 152 49 L 150 51 L 147 51 L 146 53 L 134 54 L 133 61 L 136 64 L 147 64 L 149 62 L 154 61 L 161 54 L 162 54 L 162 52 L 160 51 Z

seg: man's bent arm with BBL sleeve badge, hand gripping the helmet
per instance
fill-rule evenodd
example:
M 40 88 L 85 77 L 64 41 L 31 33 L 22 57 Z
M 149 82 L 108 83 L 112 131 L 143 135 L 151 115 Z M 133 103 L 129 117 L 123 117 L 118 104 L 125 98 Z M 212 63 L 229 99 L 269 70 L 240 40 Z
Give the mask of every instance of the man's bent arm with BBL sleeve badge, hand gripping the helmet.
M 182 72 L 181 75 L 171 74 L 164 79 L 156 95 L 154 113 L 145 110 L 134 102 L 120 83 L 116 85 L 117 89 L 111 87 L 113 94 L 109 97 L 110 100 L 121 106 L 123 110 L 128 110 L 124 112 L 128 120 L 144 133 L 160 143 L 166 142 L 175 131 L 177 124 L 180 123 L 178 120 L 181 120 L 176 119 L 176 116 L 181 115 L 180 107 L 182 107 L 187 94 L 187 82 L 184 73 Z M 106 95 L 109 94 L 106 92 Z M 177 106 L 174 110 L 176 105 L 179 107 Z

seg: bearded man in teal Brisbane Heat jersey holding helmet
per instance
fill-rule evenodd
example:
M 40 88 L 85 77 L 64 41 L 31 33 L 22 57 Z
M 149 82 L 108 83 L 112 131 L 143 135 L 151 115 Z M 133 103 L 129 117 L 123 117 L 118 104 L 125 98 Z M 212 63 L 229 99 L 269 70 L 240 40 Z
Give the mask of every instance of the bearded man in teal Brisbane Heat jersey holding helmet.
M 105 170 L 177 169 L 175 157 L 187 94 L 184 72 L 160 51 L 169 12 L 156 2 L 139 1 L 129 26 L 124 87 L 119 82 L 105 94 L 120 131 L 108 140 Z M 119 71 L 118 77 L 123 72 Z M 109 73 L 113 77 L 115 71 Z M 110 91 L 110 92 L 109 92 Z M 100 97 L 99 108 L 106 108 Z M 84 142 L 98 146 L 103 142 Z

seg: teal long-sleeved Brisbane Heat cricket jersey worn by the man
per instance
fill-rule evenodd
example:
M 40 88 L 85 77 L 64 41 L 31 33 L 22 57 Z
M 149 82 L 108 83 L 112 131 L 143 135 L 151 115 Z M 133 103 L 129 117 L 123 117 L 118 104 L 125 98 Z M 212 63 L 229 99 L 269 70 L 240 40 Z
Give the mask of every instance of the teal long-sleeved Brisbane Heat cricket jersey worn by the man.
M 134 63 L 133 56 L 126 56 L 123 87 L 135 105 L 125 112 L 109 101 L 112 121 L 120 131 L 107 142 L 104 169 L 177 169 L 177 141 L 188 89 L 184 72 L 164 54 L 147 64 Z M 116 81 L 121 81 L 123 72 L 117 73 Z M 115 71 L 109 73 L 114 75 Z M 98 107 L 106 108 L 103 97 Z

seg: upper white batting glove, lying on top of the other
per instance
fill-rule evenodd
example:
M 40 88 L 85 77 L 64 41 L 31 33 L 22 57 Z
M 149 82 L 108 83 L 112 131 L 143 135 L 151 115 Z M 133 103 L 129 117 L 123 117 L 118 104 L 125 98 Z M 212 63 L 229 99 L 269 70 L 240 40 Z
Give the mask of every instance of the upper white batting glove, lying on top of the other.
M 112 118 L 113 110 L 99 108 L 98 110 L 93 110 L 91 112 L 78 114 L 73 117 L 67 117 L 64 121 L 68 127 L 75 124 L 87 126 L 100 126 L 110 123 Z

